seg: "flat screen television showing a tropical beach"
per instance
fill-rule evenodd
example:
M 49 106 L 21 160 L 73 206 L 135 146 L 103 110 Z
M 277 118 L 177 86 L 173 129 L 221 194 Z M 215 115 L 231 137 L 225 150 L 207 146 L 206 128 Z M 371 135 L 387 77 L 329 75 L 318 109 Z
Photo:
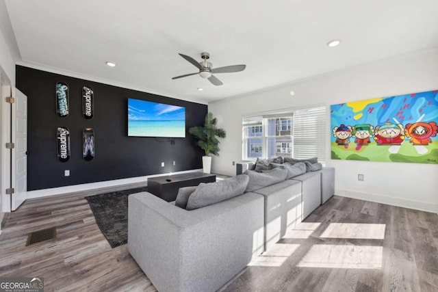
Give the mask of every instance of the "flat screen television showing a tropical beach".
M 128 98 L 128 136 L 185 137 L 185 107 Z

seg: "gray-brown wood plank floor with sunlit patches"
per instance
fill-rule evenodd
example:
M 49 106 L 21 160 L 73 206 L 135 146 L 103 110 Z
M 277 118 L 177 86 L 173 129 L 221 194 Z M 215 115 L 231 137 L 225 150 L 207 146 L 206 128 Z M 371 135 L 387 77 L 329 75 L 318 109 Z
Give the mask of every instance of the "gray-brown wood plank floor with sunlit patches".
M 45 291 L 156 291 L 127 245 L 107 243 L 90 195 L 27 200 L 10 213 L 0 276 L 42 276 Z M 53 226 L 57 239 L 25 246 L 27 233 Z M 438 291 L 437 248 L 437 214 L 334 196 L 222 290 Z

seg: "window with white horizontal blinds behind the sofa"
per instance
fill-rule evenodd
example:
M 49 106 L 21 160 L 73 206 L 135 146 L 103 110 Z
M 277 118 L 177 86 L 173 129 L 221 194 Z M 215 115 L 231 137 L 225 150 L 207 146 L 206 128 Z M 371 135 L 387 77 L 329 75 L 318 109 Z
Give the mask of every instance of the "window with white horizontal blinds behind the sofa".
M 318 157 L 325 160 L 325 107 L 244 117 L 243 159 Z

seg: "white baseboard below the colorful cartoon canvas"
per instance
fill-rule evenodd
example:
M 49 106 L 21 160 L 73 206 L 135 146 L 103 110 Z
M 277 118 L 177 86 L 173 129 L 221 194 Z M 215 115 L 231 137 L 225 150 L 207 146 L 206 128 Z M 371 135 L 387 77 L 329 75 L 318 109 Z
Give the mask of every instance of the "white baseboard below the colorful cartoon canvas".
M 404 208 L 426 211 L 431 213 L 438 213 L 438 204 L 433 204 L 430 202 L 406 200 L 402 198 L 383 196 L 381 194 L 362 193 L 359 191 L 352 191 L 349 189 L 336 189 L 335 194 L 337 196 L 343 196 L 343 197 L 354 198 L 359 200 L 367 200 L 370 202 L 376 202 L 381 204 L 390 204 L 397 207 L 404 207 Z

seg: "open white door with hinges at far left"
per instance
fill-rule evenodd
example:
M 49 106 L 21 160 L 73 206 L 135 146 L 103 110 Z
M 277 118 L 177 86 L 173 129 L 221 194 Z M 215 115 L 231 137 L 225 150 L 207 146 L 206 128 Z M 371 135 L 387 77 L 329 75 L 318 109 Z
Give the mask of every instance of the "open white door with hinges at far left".
M 15 89 L 12 104 L 12 187 L 11 209 L 16 210 L 26 200 L 27 192 L 27 96 Z

